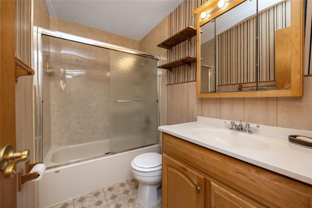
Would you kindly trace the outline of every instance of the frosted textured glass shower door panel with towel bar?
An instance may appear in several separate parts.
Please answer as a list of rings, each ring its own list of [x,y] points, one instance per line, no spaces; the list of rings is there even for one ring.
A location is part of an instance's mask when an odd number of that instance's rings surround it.
[[[157,60],[110,50],[110,149],[158,141]]]

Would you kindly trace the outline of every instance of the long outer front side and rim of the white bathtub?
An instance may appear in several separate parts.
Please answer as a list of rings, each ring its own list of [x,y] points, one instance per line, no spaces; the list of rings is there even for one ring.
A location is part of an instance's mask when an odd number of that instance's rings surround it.
[[[98,146],[100,146],[99,144]],[[76,149],[79,149],[80,146],[76,147]],[[68,152],[71,152],[73,149],[74,147],[72,149],[70,148]],[[90,160],[83,160],[74,164],[53,167],[63,160],[63,157],[60,157],[60,155],[67,155],[68,152],[66,149],[59,148],[53,149],[47,154],[44,162],[47,164],[50,162],[52,168],[45,170],[42,178],[38,181],[39,208],[59,204],[132,178],[130,162],[133,158],[146,152],[161,153],[161,148],[160,145],[147,146]],[[82,152],[80,151],[81,155]],[[68,155],[68,158],[71,157],[71,155]],[[50,159],[50,161],[47,161],[47,159]],[[83,158],[79,159],[81,160]],[[65,159],[65,163],[70,160]],[[77,160],[77,158],[74,160]]]

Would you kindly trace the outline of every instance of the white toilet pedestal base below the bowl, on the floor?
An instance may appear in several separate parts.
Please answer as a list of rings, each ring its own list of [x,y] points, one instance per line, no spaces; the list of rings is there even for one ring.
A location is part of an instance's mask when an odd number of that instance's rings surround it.
[[[159,186],[146,185],[139,182],[137,189],[137,201],[144,208],[152,208],[161,202],[161,192],[158,194]]]

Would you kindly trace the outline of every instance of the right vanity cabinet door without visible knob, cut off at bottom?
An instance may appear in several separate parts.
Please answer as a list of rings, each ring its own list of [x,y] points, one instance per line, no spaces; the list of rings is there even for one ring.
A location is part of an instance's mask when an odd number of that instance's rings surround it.
[[[257,208],[230,190],[211,182],[211,208]],[[262,206],[260,206],[262,207]]]

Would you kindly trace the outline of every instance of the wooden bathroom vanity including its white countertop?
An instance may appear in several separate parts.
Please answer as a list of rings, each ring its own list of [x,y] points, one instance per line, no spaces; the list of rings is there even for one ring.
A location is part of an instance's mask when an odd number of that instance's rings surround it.
[[[310,131],[261,125],[246,136],[228,127],[204,117],[159,127],[163,208],[312,207],[312,149],[285,138]]]

